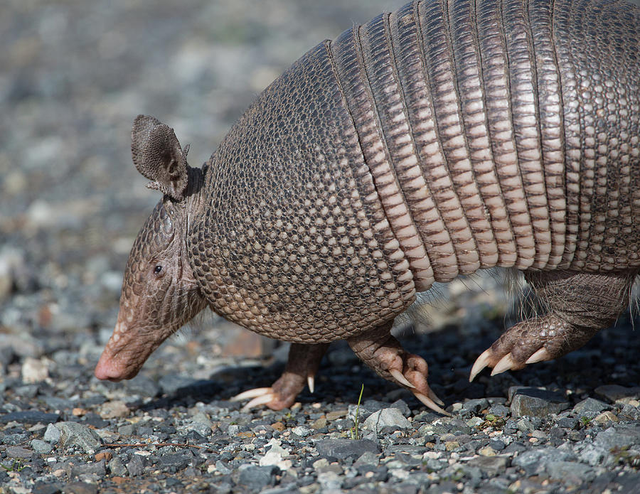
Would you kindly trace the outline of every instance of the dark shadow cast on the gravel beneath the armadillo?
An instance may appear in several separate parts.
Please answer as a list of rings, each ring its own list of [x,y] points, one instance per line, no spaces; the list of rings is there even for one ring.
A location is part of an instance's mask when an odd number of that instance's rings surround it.
[[[601,385],[628,386],[640,382],[640,363],[633,357],[640,355],[640,340],[628,315],[623,316],[614,328],[601,331],[585,347],[559,360],[529,365],[523,370],[504,372],[494,377],[490,376],[489,370],[484,370],[474,382],[469,382],[474,360],[498,338],[501,331],[500,319],[483,328],[451,325],[428,334],[405,332],[399,339],[407,351],[427,360],[430,386],[447,404],[484,397],[506,398],[512,386],[590,393]],[[286,352],[277,351],[276,354],[281,358],[267,360],[264,367],[224,367],[210,375],[208,380],[189,380],[183,385],[180,378],[167,374],[161,378],[164,382],[162,396],[140,409],[171,409],[191,406],[194,402],[220,402],[223,407],[239,408],[242,402],[228,400],[245,390],[269,387],[282,375],[285,366],[282,355]],[[173,386],[167,385],[165,381],[172,379],[178,382]],[[412,408],[422,407],[409,391],[383,380],[363,365],[344,341],[331,345],[316,375],[314,394],[305,388],[298,401],[303,404],[356,404],[361,386],[364,386],[363,399],[383,402],[404,399]]]

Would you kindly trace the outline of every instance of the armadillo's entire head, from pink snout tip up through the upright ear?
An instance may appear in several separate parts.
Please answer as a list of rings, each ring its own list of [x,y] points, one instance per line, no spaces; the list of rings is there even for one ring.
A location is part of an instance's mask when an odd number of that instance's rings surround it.
[[[165,195],[129,254],[117,323],[95,367],[98,379],[137,375],[149,355],[206,306],[186,255],[186,229],[198,209],[202,179],[199,169],[186,166],[186,151],[166,125],[153,117],[136,119],[134,163],[154,180],[149,186]]]

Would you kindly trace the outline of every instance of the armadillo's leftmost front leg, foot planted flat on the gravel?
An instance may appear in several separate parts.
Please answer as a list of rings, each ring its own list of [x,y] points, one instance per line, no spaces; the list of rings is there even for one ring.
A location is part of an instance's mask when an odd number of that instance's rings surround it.
[[[311,392],[314,391],[314,376],[318,372],[320,361],[327,348],[329,348],[329,343],[316,345],[292,343],[287,367],[271,387],[257,387],[253,390],[247,390],[233,397],[233,400],[252,398],[244,409],[257,407],[261,404],[266,404],[273,410],[290,407],[296,401],[299,392],[304,389],[304,385],[309,384]]]

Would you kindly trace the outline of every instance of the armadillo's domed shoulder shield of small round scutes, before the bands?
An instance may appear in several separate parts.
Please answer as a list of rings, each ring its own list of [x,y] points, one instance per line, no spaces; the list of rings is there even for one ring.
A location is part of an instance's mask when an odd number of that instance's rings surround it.
[[[191,264],[215,311],[299,343],[379,326],[415,298],[326,45],[279,77],[211,161]]]

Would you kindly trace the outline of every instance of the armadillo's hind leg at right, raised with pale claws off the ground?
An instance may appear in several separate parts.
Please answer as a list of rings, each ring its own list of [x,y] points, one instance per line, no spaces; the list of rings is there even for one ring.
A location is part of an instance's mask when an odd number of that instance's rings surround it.
[[[635,271],[525,272],[526,281],[548,313],[505,331],[476,360],[469,380],[484,367],[493,367],[491,375],[495,375],[580,348],[599,330],[611,326],[629,305],[635,276]]]

